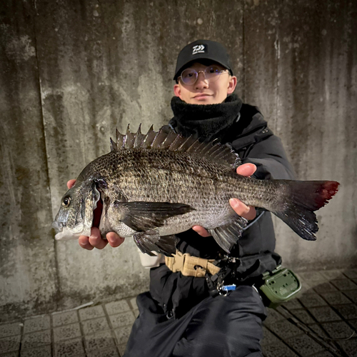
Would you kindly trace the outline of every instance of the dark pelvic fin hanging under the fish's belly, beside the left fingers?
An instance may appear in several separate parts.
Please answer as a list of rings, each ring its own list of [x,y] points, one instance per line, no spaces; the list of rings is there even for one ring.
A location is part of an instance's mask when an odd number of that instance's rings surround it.
[[[139,249],[149,256],[155,256],[152,251],[157,251],[165,256],[176,253],[176,236],[160,236],[158,229],[151,231],[138,232],[133,235],[134,241]]]

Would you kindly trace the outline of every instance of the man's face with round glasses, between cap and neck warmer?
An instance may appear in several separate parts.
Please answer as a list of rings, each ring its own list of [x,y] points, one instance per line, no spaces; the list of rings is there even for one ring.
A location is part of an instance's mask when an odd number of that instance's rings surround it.
[[[216,62],[211,64],[217,65]],[[219,65],[218,65],[219,66]],[[204,71],[207,64],[195,62],[189,66],[197,72]],[[225,68],[219,66],[221,70]],[[218,79],[205,79],[203,72],[198,73],[195,84],[184,84],[178,79],[178,84],[174,85],[174,93],[182,101],[188,104],[220,104],[236,89],[236,76],[231,76],[228,71],[218,76]]]

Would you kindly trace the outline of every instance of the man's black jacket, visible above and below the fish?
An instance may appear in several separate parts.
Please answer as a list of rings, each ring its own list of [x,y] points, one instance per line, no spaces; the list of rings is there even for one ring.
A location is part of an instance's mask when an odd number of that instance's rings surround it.
[[[237,119],[226,130],[221,141],[231,144],[243,163],[256,164],[254,176],[260,179],[294,178],[281,140],[268,129],[258,108],[243,104]],[[177,248],[183,253],[216,258],[221,252],[212,237],[203,238],[193,230],[177,236],[180,238]],[[245,271],[249,272],[244,278],[251,281],[251,278],[264,271],[272,271],[281,263],[280,256],[274,253],[275,242],[271,213],[258,209],[256,219],[249,223],[236,246],[231,249],[231,256],[242,258],[238,269],[243,276]],[[252,266],[253,271],[250,269]],[[174,311],[176,316],[180,316],[208,296],[208,288],[204,278],[182,276],[161,265],[151,268],[150,293],[164,311]]]

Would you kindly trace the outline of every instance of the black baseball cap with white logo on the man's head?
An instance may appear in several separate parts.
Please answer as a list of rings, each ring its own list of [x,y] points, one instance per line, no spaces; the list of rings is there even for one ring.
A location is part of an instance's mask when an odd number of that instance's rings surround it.
[[[178,54],[174,81],[177,80],[177,77],[180,76],[181,71],[183,71],[187,64],[193,61],[199,61],[200,59],[211,59],[221,64],[228,69],[233,76],[231,62],[229,61],[226,48],[216,41],[197,40],[183,47]]]

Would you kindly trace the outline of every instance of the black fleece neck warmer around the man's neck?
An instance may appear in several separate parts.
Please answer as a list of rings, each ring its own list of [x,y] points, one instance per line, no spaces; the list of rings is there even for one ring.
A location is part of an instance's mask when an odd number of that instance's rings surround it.
[[[177,96],[171,99],[171,108],[174,118],[171,126],[176,127],[183,136],[196,135],[199,139],[211,141],[221,139],[223,131],[233,124],[242,101],[232,94],[221,104],[187,104]]]

